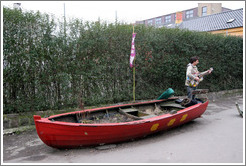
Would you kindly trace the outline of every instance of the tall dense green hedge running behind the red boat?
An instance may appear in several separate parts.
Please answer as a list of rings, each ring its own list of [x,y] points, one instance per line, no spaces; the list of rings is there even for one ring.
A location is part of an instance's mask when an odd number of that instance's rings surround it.
[[[136,100],[155,99],[167,88],[185,95],[186,66],[214,68],[199,88],[243,88],[243,39],[188,30],[135,26]],[[4,113],[132,100],[129,67],[132,26],[65,24],[39,12],[3,8]]]

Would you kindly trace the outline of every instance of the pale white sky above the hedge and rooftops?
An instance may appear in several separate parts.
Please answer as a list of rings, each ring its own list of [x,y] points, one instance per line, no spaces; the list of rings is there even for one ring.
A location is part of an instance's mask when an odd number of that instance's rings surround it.
[[[67,19],[97,21],[100,18],[115,22],[117,18],[124,23],[195,8],[198,3],[222,3],[222,7],[232,10],[245,6],[245,1],[1,1],[1,6],[13,8],[14,3],[21,3],[24,11],[39,10],[58,19],[63,18],[65,13]]]

